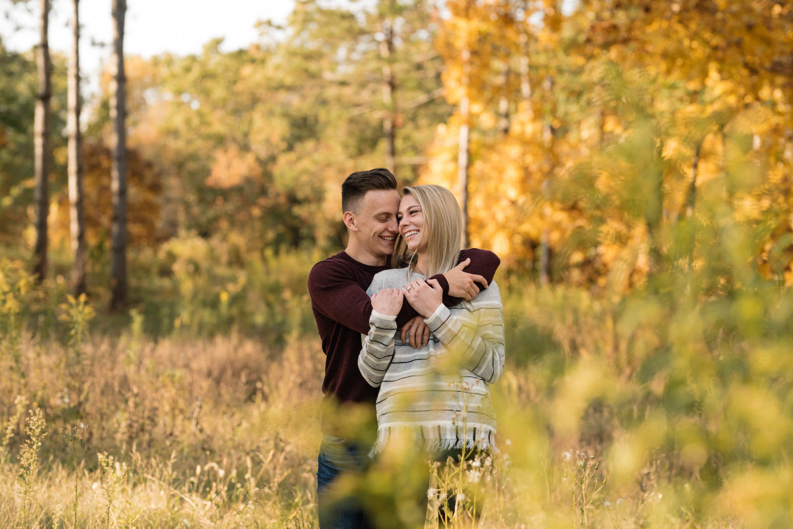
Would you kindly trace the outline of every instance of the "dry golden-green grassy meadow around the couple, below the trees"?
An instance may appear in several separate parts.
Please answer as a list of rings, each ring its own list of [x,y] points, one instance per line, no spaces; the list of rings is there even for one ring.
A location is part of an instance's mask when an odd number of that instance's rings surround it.
[[[178,306],[182,325],[201,314],[196,329],[214,317],[225,332],[147,332],[143,312],[95,314],[4,259],[0,525],[316,527],[312,259],[274,258],[295,277],[240,290],[237,314],[280,293],[291,315],[277,336],[223,320],[226,290]],[[481,519],[454,525],[789,527],[793,297],[749,265],[752,288],[703,295],[706,268],[624,296],[500,272],[500,454],[446,476],[487,489]],[[398,494],[399,465],[381,462],[371,487]]]

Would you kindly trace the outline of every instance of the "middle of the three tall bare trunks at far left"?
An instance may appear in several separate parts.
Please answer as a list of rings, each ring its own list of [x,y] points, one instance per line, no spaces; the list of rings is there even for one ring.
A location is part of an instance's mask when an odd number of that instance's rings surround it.
[[[80,137],[80,17],[79,0],[72,0],[71,55],[69,56],[69,228],[75,264],[71,268],[71,287],[75,295],[86,291],[86,223],[82,211],[82,138]]]

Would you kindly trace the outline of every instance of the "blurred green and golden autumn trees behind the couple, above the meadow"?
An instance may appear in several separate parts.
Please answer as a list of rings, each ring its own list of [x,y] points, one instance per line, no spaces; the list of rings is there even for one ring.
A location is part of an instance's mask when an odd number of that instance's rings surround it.
[[[791,16],[754,0],[302,0],[285,25],[260,22],[247,49],[127,57],[131,280],[151,266],[174,277],[168,249],[191,238],[225,248],[240,273],[255,255],[327,255],[345,242],[340,182],[389,166],[406,185],[453,189],[470,244],[508,270],[619,294],[701,265],[695,226],[714,222],[703,190],[720,186],[736,218],[764,226],[758,270],[787,284]],[[33,259],[34,59],[0,49],[0,238]],[[55,256],[43,276],[56,278],[74,251],[65,60],[53,63],[52,196],[39,209],[52,214]],[[87,105],[82,149],[99,298],[119,273],[108,267],[121,230],[102,191],[112,81],[108,70]],[[155,295],[146,288],[133,285],[131,303]]]

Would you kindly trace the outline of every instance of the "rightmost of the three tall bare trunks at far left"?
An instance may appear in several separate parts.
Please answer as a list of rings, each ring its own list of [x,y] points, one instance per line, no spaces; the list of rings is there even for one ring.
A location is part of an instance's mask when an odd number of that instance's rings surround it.
[[[113,194],[113,219],[110,238],[113,252],[110,257],[110,310],[127,305],[127,141],[124,74],[124,19],[127,0],[113,0],[113,59],[110,82],[110,120],[113,121],[111,139],[113,162],[110,168],[110,191]]]

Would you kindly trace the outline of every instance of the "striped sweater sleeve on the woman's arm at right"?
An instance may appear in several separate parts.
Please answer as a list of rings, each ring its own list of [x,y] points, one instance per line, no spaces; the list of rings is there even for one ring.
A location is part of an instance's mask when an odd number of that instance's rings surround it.
[[[498,286],[490,288],[495,291],[488,291],[487,300],[477,296],[452,310],[440,305],[424,320],[450,354],[460,356],[462,367],[488,384],[504,372],[504,310]]]

